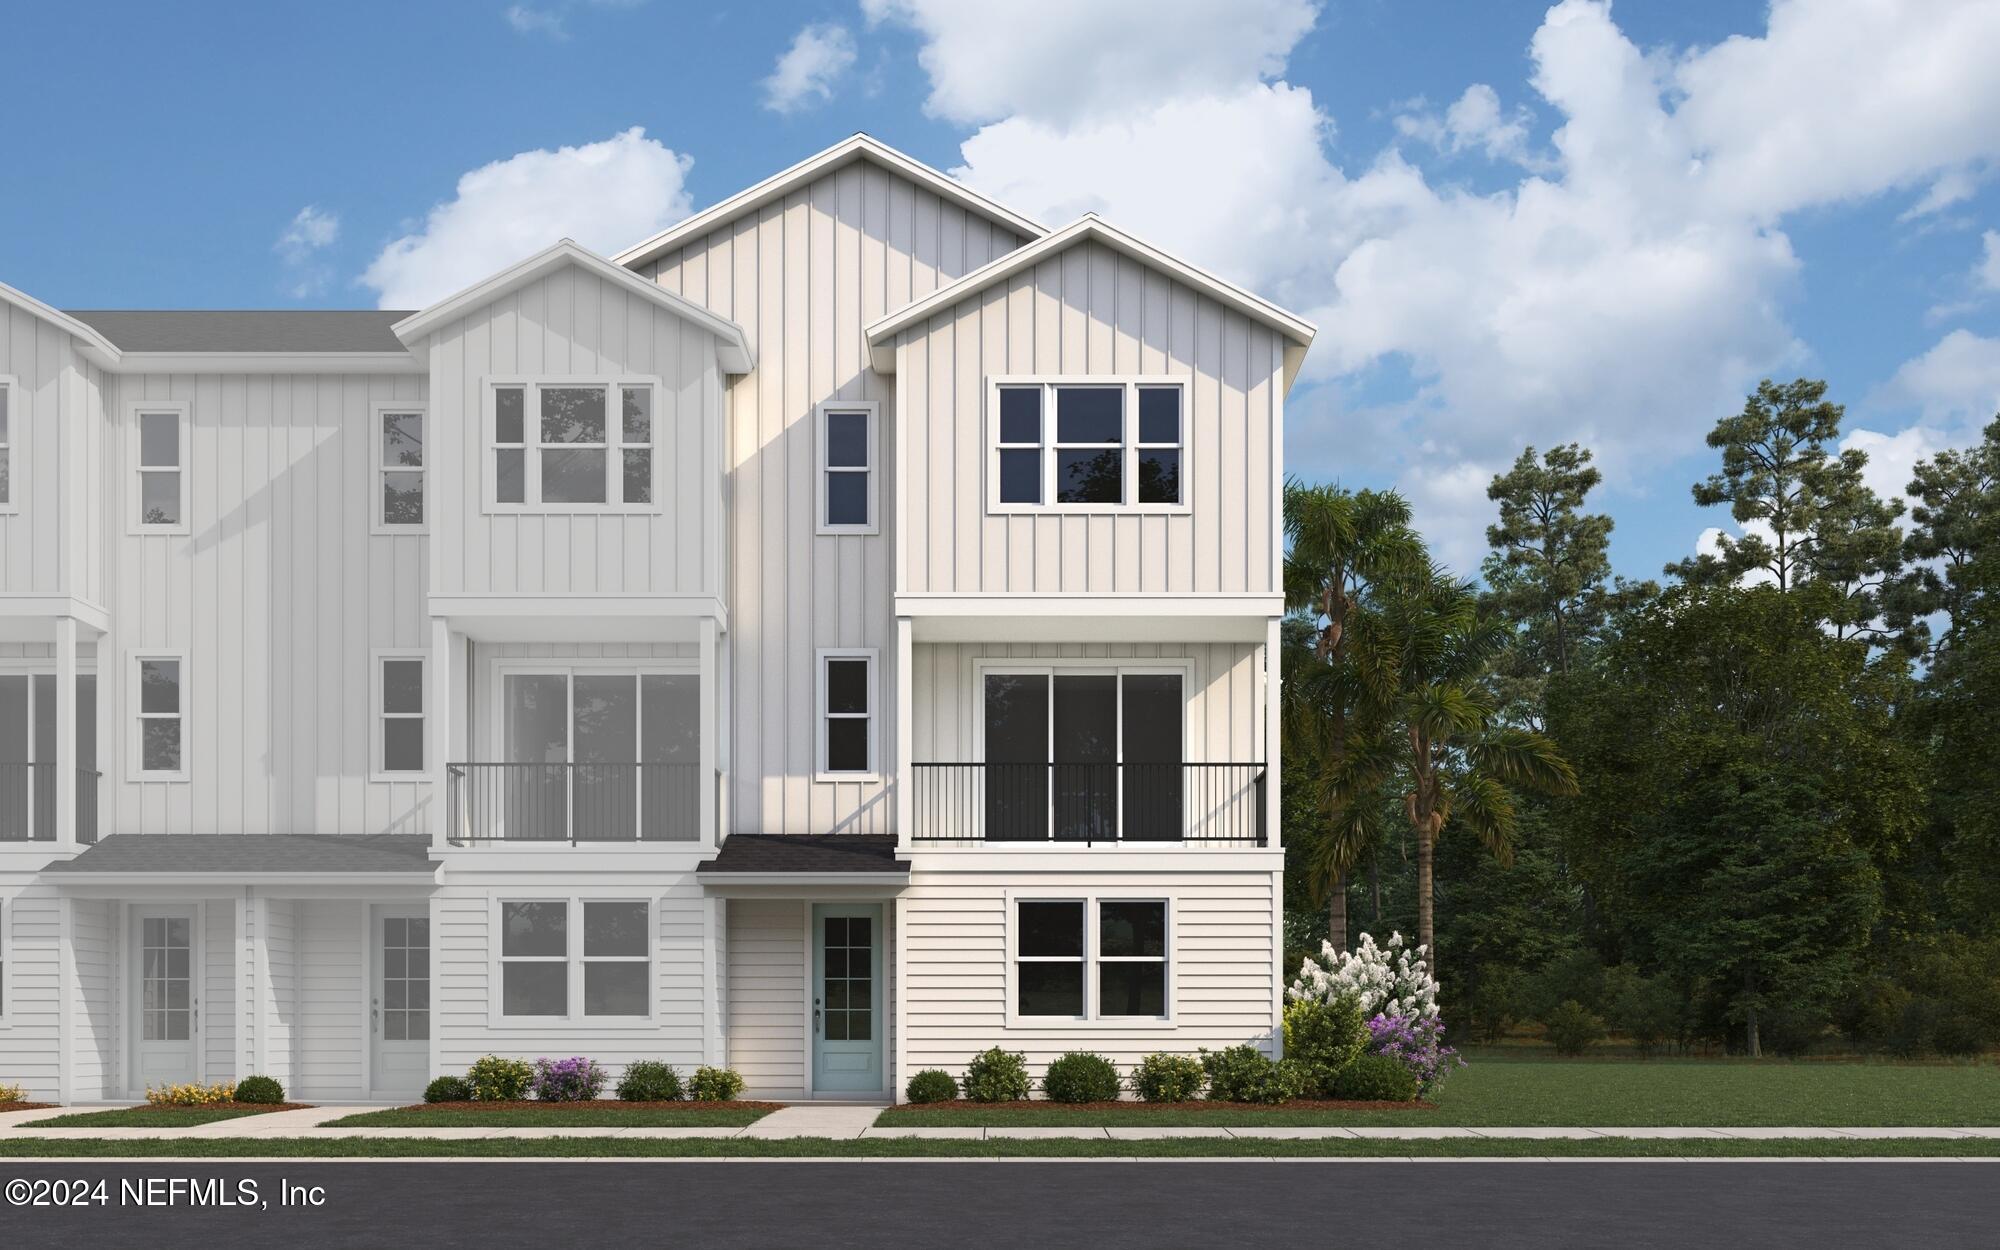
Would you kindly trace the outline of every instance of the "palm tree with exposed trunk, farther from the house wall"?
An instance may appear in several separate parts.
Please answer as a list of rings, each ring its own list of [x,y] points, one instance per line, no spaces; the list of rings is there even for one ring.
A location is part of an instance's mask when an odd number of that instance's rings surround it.
[[[1576,794],[1556,744],[1500,720],[1488,686],[1508,628],[1482,614],[1472,586],[1432,568],[1384,596],[1396,640],[1398,692],[1390,724],[1404,742],[1404,812],[1416,836],[1416,928],[1438,968],[1432,866],[1438,834],[1456,818],[1502,864],[1514,862],[1514,794]],[[1378,744],[1370,744],[1378,746]]]

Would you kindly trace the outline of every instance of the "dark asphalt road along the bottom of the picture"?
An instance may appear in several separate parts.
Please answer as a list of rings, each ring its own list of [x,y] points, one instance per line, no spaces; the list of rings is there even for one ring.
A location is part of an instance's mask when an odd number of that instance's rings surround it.
[[[0,1160],[0,1246],[1994,1246],[1994,1162]],[[174,1182],[238,1206],[190,1206]],[[140,1188],[128,1188],[132,1182]],[[220,1182],[220,1184],[218,1184]],[[254,1184],[250,1194],[244,1182]],[[144,1184],[154,1186],[148,1194]],[[298,1186],[282,1190],[282,1186]],[[320,1202],[310,1202],[320,1186]],[[300,1196],[300,1188],[308,1196]],[[284,1194],[292,1194],[292,1204]],[[12,1202],[16,1194],[10,1190]],[[144,1200],[162,1202],[144,1206]],[[172,1200],[170,1206],[164,1202]],[[268,1202],[268,1206],[260,1206]]]

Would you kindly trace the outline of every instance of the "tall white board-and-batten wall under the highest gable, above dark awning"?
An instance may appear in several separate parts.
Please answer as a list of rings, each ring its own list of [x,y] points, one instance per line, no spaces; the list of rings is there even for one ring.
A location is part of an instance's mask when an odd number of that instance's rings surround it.
[[[730,318],[756,370],[728,388],[730,828],[886,834],[886,784],[816,782],[816,652],[876,648],[880,744],[896,740],[894,378],[862,326],[1012,252],[1020,236],[874,162],[850,162],[640,268]],[[816,534],[814,414],[880,404],[878,534]]]

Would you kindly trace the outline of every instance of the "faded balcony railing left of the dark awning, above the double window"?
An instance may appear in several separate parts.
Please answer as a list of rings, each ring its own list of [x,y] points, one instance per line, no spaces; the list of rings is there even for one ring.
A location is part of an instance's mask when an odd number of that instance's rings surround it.
[[[448,838],[696,842],[700,764],[446,764]]]

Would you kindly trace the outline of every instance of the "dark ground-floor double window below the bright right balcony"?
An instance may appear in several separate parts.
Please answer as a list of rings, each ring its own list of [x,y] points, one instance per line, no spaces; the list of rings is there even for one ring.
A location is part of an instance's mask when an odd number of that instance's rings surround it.
[[[1164,1020],[1166,900],[1018,900],[1014,1014]]]

